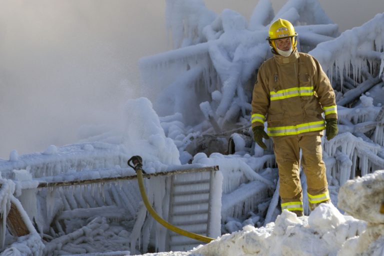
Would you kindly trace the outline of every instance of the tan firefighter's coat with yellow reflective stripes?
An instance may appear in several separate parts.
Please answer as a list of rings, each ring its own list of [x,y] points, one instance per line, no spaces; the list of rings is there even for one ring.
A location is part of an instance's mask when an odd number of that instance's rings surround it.
[[[252,127],[264,125],[270,136],[322,134],[325,119],[337,118],[335,94],[317,60],[294,50],[261,64],[252,95]]]

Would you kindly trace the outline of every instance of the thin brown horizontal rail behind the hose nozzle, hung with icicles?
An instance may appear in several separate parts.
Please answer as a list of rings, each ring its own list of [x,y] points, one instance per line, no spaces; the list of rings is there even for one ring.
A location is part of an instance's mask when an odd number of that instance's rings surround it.
[[[170,171],[161,171],[154,173],[143,173],[144,178],[156,177],[156,176],[169,176],[174,174],[189,173],[189,172],[204,172],[204,171],[216,171],[218,170],[218,165],[201,167],[201,168],[189,168],[189,169],[179,169],[179,170],[170,170]],[[71,185],[84,185],[91,183],[104,183],[110,181],[118,180],[129,180],[136,179],[137,175],[129,176],[117,176],[117,177],[103,177],[103,178],[91,178],[91,179],[82,179],[82,180],[63,180],[63,181],[39,181],[40,183],[37,187],[53,187],[53,186],[71,186]]]

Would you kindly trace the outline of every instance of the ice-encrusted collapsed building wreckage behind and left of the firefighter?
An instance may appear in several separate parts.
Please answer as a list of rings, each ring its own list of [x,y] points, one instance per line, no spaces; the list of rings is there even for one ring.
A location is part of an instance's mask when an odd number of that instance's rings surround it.
[[[214,189],[214,197],[221,200],[211,205],[216,216],[221,216],[221,232],[235,231],[243,223],[260,226],[273,221],[279,213],[278,193],[273,193],[277,178],[272,145],[269,141],[268,149],[260,151],[248,128],[250,91],[258,66],[270,54],[265,38],[268,24],[275,17],[295,25],[298,47],[320,61],[337,95],[340,133],[331,141],[324,141],[332,200],[337,201],[339,186],[350,184],[349,179],[360,175],[365,180],[365,176],[372,177],[368,174],[384,168],[383,107],[371,97],[383,93],[384,14],[339,35],[337,25],[332,24],[316,0],[290,0],[276,15],[270,1],[260,0],[248,23],[231,10],[216,15],[200,1],[167,0],[166,11],[175,49],[140,60],[143,89],[150,88],[146,91],[153,93],[148,96],[161,116],[158,120],[166,137],[177,146],[179,166],[191,167],[189,162],[194,167],[219,165],[221,177],[217,182],[221,185]],[[5,178],[0,193],[2,214],[5,216],[11,209],[11,202],[22,205],[28,215],[23,213],[27,223],[24,231],[29,232],[15,240],[7,233],[3,217],[1,241],[10,247],[2,253],[95,252],[104,234],[113,242],[104,243],[103,251],[168,249],[166,230],[146,217],[136,182],[37,190],[37,179],[51,182],[134,175],[132,169],[125,168],[128,157],[122,151],[121,145],[94,141],[59,147],[45,154],[11,154],[9,161],[0,160]],[[170,169],[147,164],[144,169],[155,169],[153,172]],[[30,178],[16,181],[17,175]],[[68,175],[72,177],[68,179]],[[197,179],[208,180],[201,175]],[[10,179],[13,181],[7,181]],[[146,180],[147,193],[156,211],[166,216],[170,181],[159,179],[162,181]],[[206,190],[204,186],[208,185],[198,185]],[[354,209],[341,201],[340,207],[353,214]],[[245,220],[241,223],[236,219]],[[193,223],[195,219],[189,221]],[[187,220],[182,218],[179,222]],[[212,228],[217,226],[220,223]]]

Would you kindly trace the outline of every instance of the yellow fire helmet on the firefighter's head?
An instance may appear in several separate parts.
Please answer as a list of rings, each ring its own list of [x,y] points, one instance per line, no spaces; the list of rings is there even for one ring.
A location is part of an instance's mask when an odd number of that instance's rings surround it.
[[[268,40],[269,45],[276,52],[278,52],[276,44],[274,42],[275,39],[290,37],[292,50],[294,50],[297,44],[296,36],[297,33],[294,31],[292,23],[290,23],[286,19],[279,18],[269,26],[269,36],[266,39]]]

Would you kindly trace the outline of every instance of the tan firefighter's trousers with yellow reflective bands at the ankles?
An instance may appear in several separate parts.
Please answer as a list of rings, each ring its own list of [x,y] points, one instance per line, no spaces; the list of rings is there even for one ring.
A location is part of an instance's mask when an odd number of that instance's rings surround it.
[[[276,136],[272,139],[280,177],[281,209],[302,215],[302,188],[299,176],[300,148],[302,151],[301,164],[308,187],[309,208],[313,210],[319,203],[329,201],[320,135]]]

